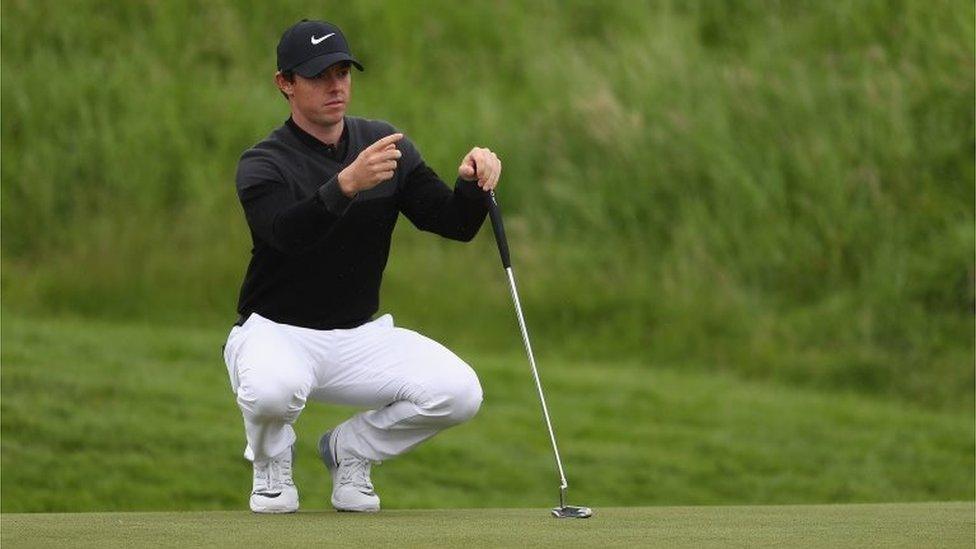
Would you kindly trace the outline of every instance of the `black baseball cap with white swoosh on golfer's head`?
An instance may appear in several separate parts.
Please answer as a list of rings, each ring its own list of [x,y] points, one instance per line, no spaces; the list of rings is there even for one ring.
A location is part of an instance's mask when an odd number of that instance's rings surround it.
[[[293,71],[312,78],[340,61],[349,61],[363,70],[349,53],[346,37],[332,23],[302,19],[278,41],[278,70],[282,72]]]

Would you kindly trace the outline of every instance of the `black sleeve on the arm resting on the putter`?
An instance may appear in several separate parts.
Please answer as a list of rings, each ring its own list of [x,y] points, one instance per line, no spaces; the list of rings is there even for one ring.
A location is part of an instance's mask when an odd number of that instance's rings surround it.
[[[451,191],[423,161],[407,175],[397,201],[400,211],[418,229],[463,242],[478,234],[488,214],[485,193],[477,181],[459,177]]]

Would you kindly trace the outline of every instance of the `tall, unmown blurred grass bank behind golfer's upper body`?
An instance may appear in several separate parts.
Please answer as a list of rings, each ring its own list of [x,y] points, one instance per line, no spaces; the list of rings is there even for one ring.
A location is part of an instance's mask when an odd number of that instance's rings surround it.
[[[366,66],[350,114],[499,188],[543,355],[971,409],[967,1],[7,0],[5,314],[227,324],[239,155],[280,125],[302,17]],[[451,345],[517,346],[490,231],[402,219],[382,295]]]

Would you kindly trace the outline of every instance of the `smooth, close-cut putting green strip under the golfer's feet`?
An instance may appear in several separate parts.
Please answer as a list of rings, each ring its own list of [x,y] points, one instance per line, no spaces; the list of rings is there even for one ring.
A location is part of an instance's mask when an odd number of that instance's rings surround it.
[[[545,509],[6,514],[4,547],[972,547],[969,503]]]

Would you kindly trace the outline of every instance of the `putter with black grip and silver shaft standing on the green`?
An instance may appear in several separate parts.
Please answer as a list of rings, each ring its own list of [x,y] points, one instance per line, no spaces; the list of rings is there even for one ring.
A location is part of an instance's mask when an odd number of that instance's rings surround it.
[[[556,435],[552,430],[552,421],[549,419],[549,408],[546,406],[546,397],[542,394],[542,382],[539,381],[539,370],[535,367],[535,357],[532,355],[532,345],[529,343],[529,332],[525,329],[525,318],[522,316],[522,304],[518,299],[518,290],[515,289],[515,275],[512,273],[512,260],[508,254],[508,239],[505,238],[505,226],[502,224],[502,212],[498,208],[498,202],[495,200],[495,191],[490,191],[486,200],[488,200],[488,214],[491,216],[491,228],[495,232],[495,243],[498,244],[498,253],[502,258],[502,267],[505,268],[505,272],[508,274],[508,287],[512,291],[512,301],[515,302],[515,315],[518,317],[519,328],[522,330],[522,342],[525,343],[525,352],[529,355],[532,377],[535,379],[535,388],[539,391],[539,402],[542,403],[542,416],[546,420],[546,427],[549,428],[549,441],[552,442],[552,453],[556,456],[556,467],[559,469],[559,507],[552,508],[552,516],[556,518],[589,518],[593,515],[593,510],[589,507],[566,505],[566,490],[569,488],[569,484],[566,482],[563,462],[559,459]]]

